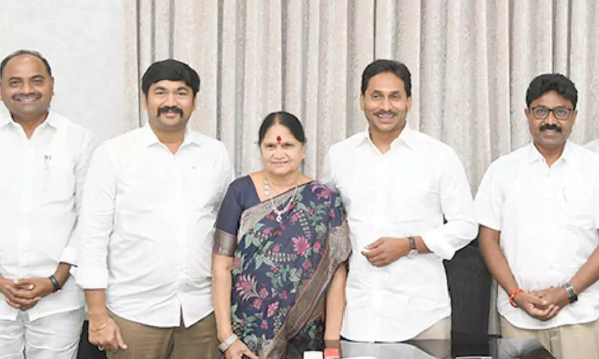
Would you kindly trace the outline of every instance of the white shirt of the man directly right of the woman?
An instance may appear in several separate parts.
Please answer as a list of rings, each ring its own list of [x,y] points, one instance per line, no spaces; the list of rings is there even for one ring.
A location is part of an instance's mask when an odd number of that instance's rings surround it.
[[[406,125],[381,154],[362,132],[331,147],[322,182],[343,197],[353,248],[341,335],[397,342],[449,317],[442,260],[477,234],[470,186],[456,153]],[[385,267],[372,266],[361,254],[381,237],[407,236],[421,236],[432,253]]]

